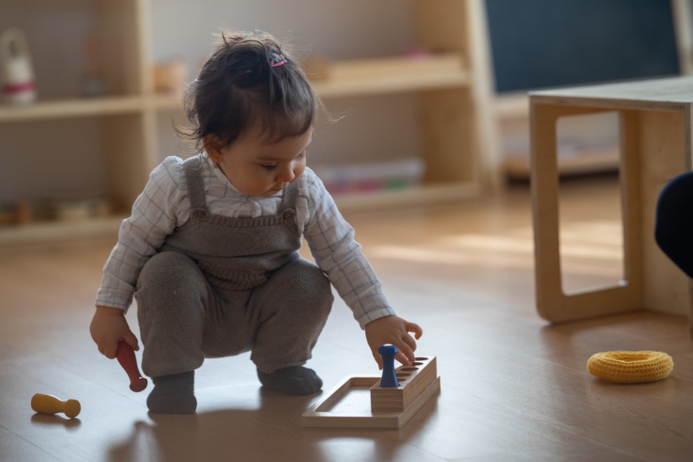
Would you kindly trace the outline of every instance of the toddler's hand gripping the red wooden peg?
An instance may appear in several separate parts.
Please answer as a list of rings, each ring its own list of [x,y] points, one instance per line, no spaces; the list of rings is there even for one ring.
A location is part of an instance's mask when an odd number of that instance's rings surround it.
[[[97,306],[89,332],[99,352],[109,359],[116,357],[118,342],[121,340],[132,346],[132,349],[139,350],[137,337],[125,320],[125,312],[119,308]]]

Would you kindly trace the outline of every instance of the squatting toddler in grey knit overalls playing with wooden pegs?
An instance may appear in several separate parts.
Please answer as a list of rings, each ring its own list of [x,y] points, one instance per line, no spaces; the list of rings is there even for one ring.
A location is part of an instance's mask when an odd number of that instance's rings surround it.
[[[265,33],[225,33],[184,96],[198,154],[166,158],[123,220],[103,269],[91,337],[114,358],[139,349],[125,320],[137,300],[153,413],[192,414],[205,357],[251,352],[263,387],[316,393],[304,364],[333,285],[377,349],[414,360],[422,330],[397,317],[322,181],[306,167],[322,104],[300,66]],[[299,256],[301,236],[315,263]]]

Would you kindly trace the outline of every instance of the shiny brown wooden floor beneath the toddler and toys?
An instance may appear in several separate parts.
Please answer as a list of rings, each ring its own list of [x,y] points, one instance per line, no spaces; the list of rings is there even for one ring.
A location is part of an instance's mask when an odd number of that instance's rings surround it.
[[[571,185],[561,209],[566,285],[618,278],[613,179]],[[397,430],[304,429],[320,396],[261,389],[247,355],[198,370],[198,414],[148,415],[119,364],[89,337],[111,239],[0,249],[0,461],[691,461],[693,342],[686,320],[647,312],[550,326],[534,309],[526,186],[416,210],[345,213],[387,294],[420,323],[441,391]],[[570,246],[568,246],[570,247]],[[128,314],[135,326],[134,310]],[[650,384],[586,370],[608,350],[662,350],[674,372]],[[377,374],[339,301],[310,366],[326,390]],[[34,393],[76,398],[69,420],[35,414]]]

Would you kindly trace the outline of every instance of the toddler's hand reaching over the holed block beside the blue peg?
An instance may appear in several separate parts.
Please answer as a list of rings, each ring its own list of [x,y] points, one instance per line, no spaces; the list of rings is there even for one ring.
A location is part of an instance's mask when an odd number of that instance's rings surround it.
[[[366,340],[378,363],[378,368],[383,368],[383,358],[378,355],[378,348],[385,344],[393,344],[397,347],[398,353],[394,359],[398,362],[405,366],[410,366],[414,362],[416,341],[409,332],[414,333],[416,340],[423,335],[423,330],[417,324],[394,315],[378,318],[366,324]]]

